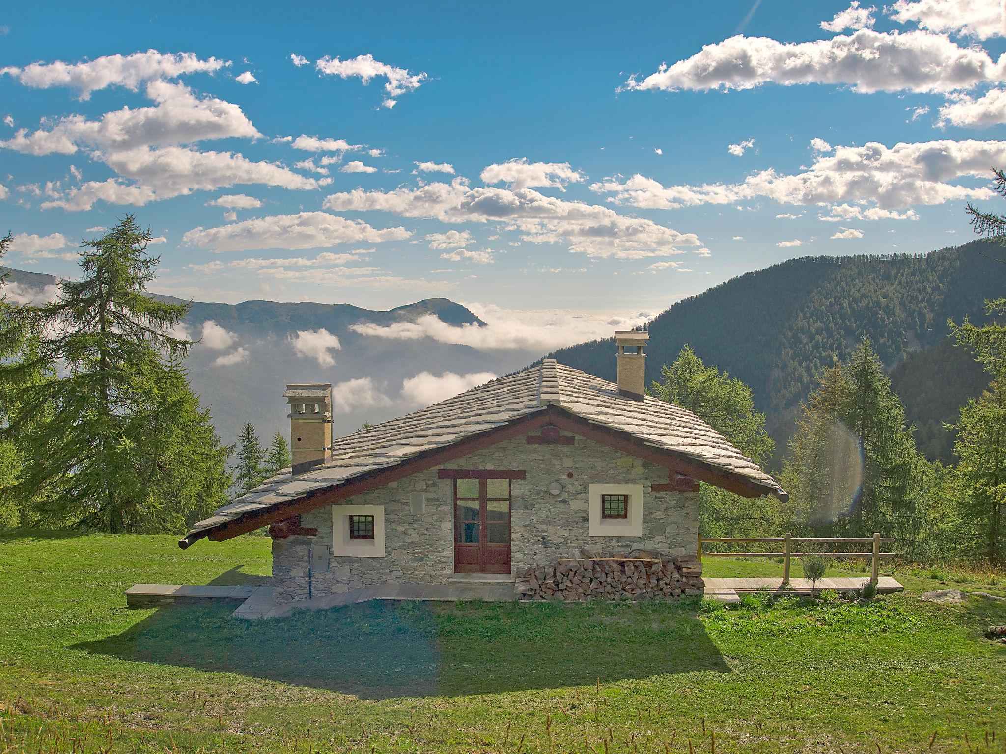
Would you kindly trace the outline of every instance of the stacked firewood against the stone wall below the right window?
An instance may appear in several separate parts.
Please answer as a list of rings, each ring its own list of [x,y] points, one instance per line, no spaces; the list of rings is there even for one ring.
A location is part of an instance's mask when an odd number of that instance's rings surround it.
[[[673,599],[701,594],[702,564],[695,557],[681,557],[648,550],[629,555],[603,556],[580,550],[570,558],[532,566],[515,585],[518,599]]]

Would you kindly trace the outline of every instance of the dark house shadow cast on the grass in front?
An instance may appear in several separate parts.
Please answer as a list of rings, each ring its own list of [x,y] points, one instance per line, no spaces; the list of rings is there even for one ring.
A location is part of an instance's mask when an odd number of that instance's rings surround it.
[[[369,699],[728,672],[692,607],[374,601],[245,622],[232,606],[176,605],[70,648]]]

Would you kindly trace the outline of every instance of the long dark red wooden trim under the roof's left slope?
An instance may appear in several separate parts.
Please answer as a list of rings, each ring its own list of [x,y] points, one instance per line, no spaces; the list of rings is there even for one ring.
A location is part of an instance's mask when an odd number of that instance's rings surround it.
[[[220,524],[212,529],[203,529],[202,531],[194,532],[191,537],[184,538],[181,542],[185,543],[186,547],[203,537],[208,537],[211,542],[223,542],[241,534],[254,532],[256,529],[269,526],[274,522],[283,521],[293,515],[307,513],[308,511],[313,511],[315,508],[329,506],[346,498],[352,498],[353,496],[376,490],[391,482],[397,482],[413,474],[426,472],[443,463],[464,457],[476,450],[484,450],[498,442],[508,440],[512,437],[519,437],[522,434],[539,429],[547,424],[548,421],[548,409],[543,408],[536,413],[522,416],[519,419],[511,421],[509,424],[503,424],[485,432],[480,432],[453,445],[416,453],[411,458],[407,458],[398,465],[391,466],[390,468],[376,469],[340,485],[308,493],[302,498],[285,501],[272,508],[263,510],[258,515],[255,512],[242,514],[232,522]]]

